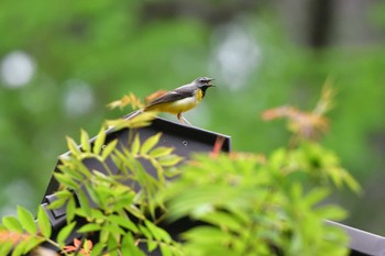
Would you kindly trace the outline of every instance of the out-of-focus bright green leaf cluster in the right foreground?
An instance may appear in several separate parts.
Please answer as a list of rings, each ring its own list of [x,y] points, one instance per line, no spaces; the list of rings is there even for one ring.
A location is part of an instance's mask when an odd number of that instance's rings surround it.
[[[345,255],[345,234],[324,220],[341,221],[346,212],[321,202],[334,185],[359,186],[329,156],[324,168],[336,172],[310,167],[311,146],[320,149],[317,144],[279,148],[264,160],[250,154],[196,155],[164,190],[173,221],[187,216],[205,223],[184,234],[186,255]]]

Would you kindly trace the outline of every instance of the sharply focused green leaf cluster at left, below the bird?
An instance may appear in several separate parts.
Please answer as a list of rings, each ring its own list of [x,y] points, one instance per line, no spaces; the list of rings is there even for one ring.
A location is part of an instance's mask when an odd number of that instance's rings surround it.
[[[74,246],[67,245],[75,229],[84,242],[75,243],[79,248],[91,243],[86,240],[88,236],[97,241],[87,246],[87,251],[82,248],[81,252],[91,252],[89,255],[103,255],[106,252],[144,255],[138,246],[147,252],[161,249],[164,255],[179,255],[177,243],[154,224],[158,218],[155,209],[164,205],[153,199],[166,178],[175,175],[175,168],[169,167],[183,158],[173,154],[173,148],[156,146],[161,134],[143,143],[139,133],[132,137],[123,146],[118,145],[116,140],[107,143],[103,127],[94,142],[81,131],[79,146],[67,137],[69,154],[61,158],[59,171],[54,174],[61,189],[55,193],[57,199],[48,205],[52,210],[66,209],[65,226],[52,240],[45,211],[41,209],[34,222],[32,214],[20,208],[20,221],[13,216],[3,219],[4,232],[10,236],[4,237],[8,246],[0,255],[6,255],[11,248],[12,255],[22,255],[43,242],[51,243],[62,254],[76,255],[80,249],[75,251]],[[97,162],[98,168],[89,169],[89,160]],[[111,169],[107,162],[112,162],[118,170]],[[146,171],[144,162],[156,170],[155,177]]]

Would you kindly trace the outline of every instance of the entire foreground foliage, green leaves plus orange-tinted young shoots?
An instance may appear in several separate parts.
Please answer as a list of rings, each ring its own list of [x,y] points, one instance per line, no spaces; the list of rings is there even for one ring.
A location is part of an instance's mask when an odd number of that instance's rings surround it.
[[[287,118],[293,133],[288,146],[268,156],[221,154],[218,140],[211,154],[182,163],[173,148],[158,146],[162,134],[143,140],[134,132],[151,123],[147,113],[107,122],[114,130],[131,129],[125,145],[106,141],[107,125],[92,143],[85,131],[79,143],[67,137],[69,154],[55,172],[61,188],[50,204],[66,209],[65,225],[52,237],[43,208],[34,219],[19,207],[18,216],[2,219],[0,255],[57,255],[42,244],[68,256],[155,251],[165,256],[348,255],[345,233],[324,222],[346,216],[341,207],[324,201],[334,188],[361,191],[338,157],[317,141],[329,126],[324,113],[332,96],[326,87],[312,112],[294,107],[265,112],[268,120]],[[110,107],[127,104],[141,105],[130,94]],[[98,163],[92,169],[85,164],[90,159]],[[185,218],[200,224],[178,241],[158,225]]]

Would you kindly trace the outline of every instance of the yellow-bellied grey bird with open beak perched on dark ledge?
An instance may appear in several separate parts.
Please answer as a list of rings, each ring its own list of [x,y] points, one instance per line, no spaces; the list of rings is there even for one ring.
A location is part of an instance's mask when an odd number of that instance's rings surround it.
[[[191,125],[182,114],[200,103],[205,98],[206,90],[215,87],[211,81],[212,78],[199,77],[185,86],[178,87],[172,91],[148,102],[143,111],[158,111],[176,114],[180,123]],[[133,114],[136,115],[136,114]]]

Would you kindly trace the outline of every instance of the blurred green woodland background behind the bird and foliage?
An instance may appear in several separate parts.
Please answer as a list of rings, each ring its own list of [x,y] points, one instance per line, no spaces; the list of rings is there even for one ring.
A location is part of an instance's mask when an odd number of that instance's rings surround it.
[[[385,235],[384,2],[2,0],[0,10],[0,216],[35,211],[65,135],[95,135],[125,113],[106,108],[124,93],[215,77],[186,118],[231,135],[234,151],[268,154],[289,134],[261,112],[311,109],[332,77],[323,143],[365,190],[333,200],[351,211],[346,224]]]

